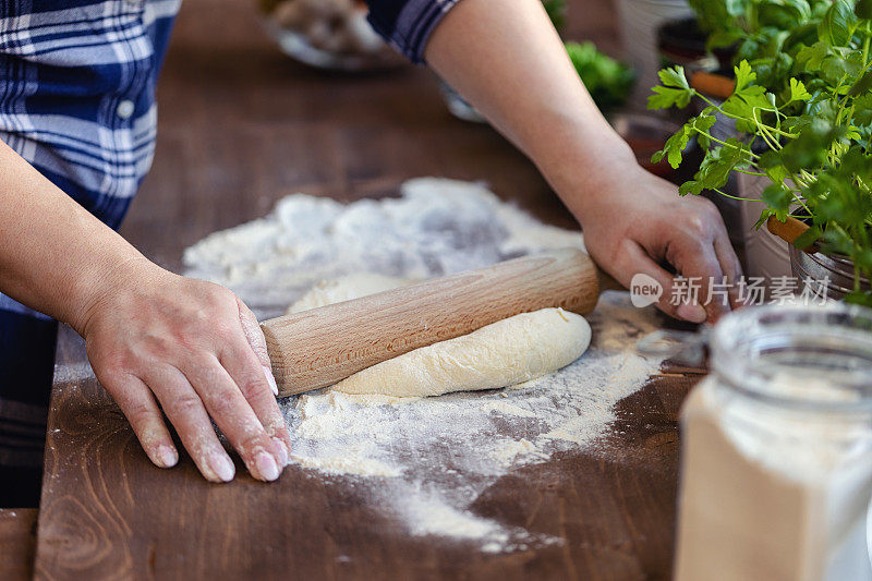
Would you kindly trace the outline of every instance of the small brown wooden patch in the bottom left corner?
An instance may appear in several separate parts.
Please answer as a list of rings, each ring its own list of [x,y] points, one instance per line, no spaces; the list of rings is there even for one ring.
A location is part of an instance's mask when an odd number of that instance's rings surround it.
[[[25,581],[34,576],[35,508],[0,509],[0,579]]]

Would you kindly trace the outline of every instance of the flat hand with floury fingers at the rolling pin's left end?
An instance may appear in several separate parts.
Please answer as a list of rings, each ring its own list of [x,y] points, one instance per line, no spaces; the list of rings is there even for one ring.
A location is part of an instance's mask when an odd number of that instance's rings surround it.
[[[179,455],[164,422],[211,482],[235,469],[214,420],[249,472],[279,477],[291,438],[254,314],[228,289],[133,259],[88,305],[76,330],[97,378],[158,467]]]

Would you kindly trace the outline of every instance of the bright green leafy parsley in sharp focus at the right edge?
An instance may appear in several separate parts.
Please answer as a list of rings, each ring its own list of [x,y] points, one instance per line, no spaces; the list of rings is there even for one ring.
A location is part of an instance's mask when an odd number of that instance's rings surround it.
[[[727,4],[705,7],[728,10]],[[654,87],[650,108],[683,108],[694,98],[706,107],[654,160],[666,158],[678,167],[689,140],[697,138],[705,157],[694,178],[680,186],[681,195],[707,189],[731,196],[723,191],[731,173],[768,180],[756,227],[770,217],[806,222],[809,229],[794,245],[818,244],[823,255],[847,262],[853,271],[848,300],[872,305],[872,0],[856,7],[847,0],[737,5],[751,7],[747,14],[758,23],[764,8],[786,7],[783,20],[766,16],[783,28],[749,26],[752,32],[715,38],[739,43],[737,53],[753,57],[735,68],[735,88],[723,102],[691,87],[680,66],[659,72],[662,84]],[[804,24],[787,28],[788,16],[796,14]],[[765,43],[780,48],[763,50]],[[740,133],[713,135],[716,114],[735,122]],[[797,271],[799,254],[792,255]]]

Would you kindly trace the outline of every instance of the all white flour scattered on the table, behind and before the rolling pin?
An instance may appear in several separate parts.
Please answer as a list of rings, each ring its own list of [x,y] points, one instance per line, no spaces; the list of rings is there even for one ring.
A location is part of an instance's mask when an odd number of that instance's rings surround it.
[[[399,199],[286,197],[267,218],[187,249],[184,261],[189,275],[228,286],[272,316],[323,279],[359,271],[423,279],[560,246],[583,247],[581,234],[542,225],[481,184],[419,179]],[[350,480],[411,534],[486,552],[559,543],[469,507],[519,467],[601,445],[615,404],[658,370],[659,360],[632,350],[657,327],[651,307],[609,292],[588,319],[593,341],[581,359],[520,386],[411,400],[328,390],[286,399],[293,461]]]

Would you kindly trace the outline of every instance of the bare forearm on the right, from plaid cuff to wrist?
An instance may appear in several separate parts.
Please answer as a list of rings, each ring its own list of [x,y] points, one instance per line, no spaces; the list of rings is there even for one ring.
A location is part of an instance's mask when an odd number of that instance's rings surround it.
[[[634,167],[588,95],[540,0],[461,0],[427,62],[540,168],[573,211]]]

